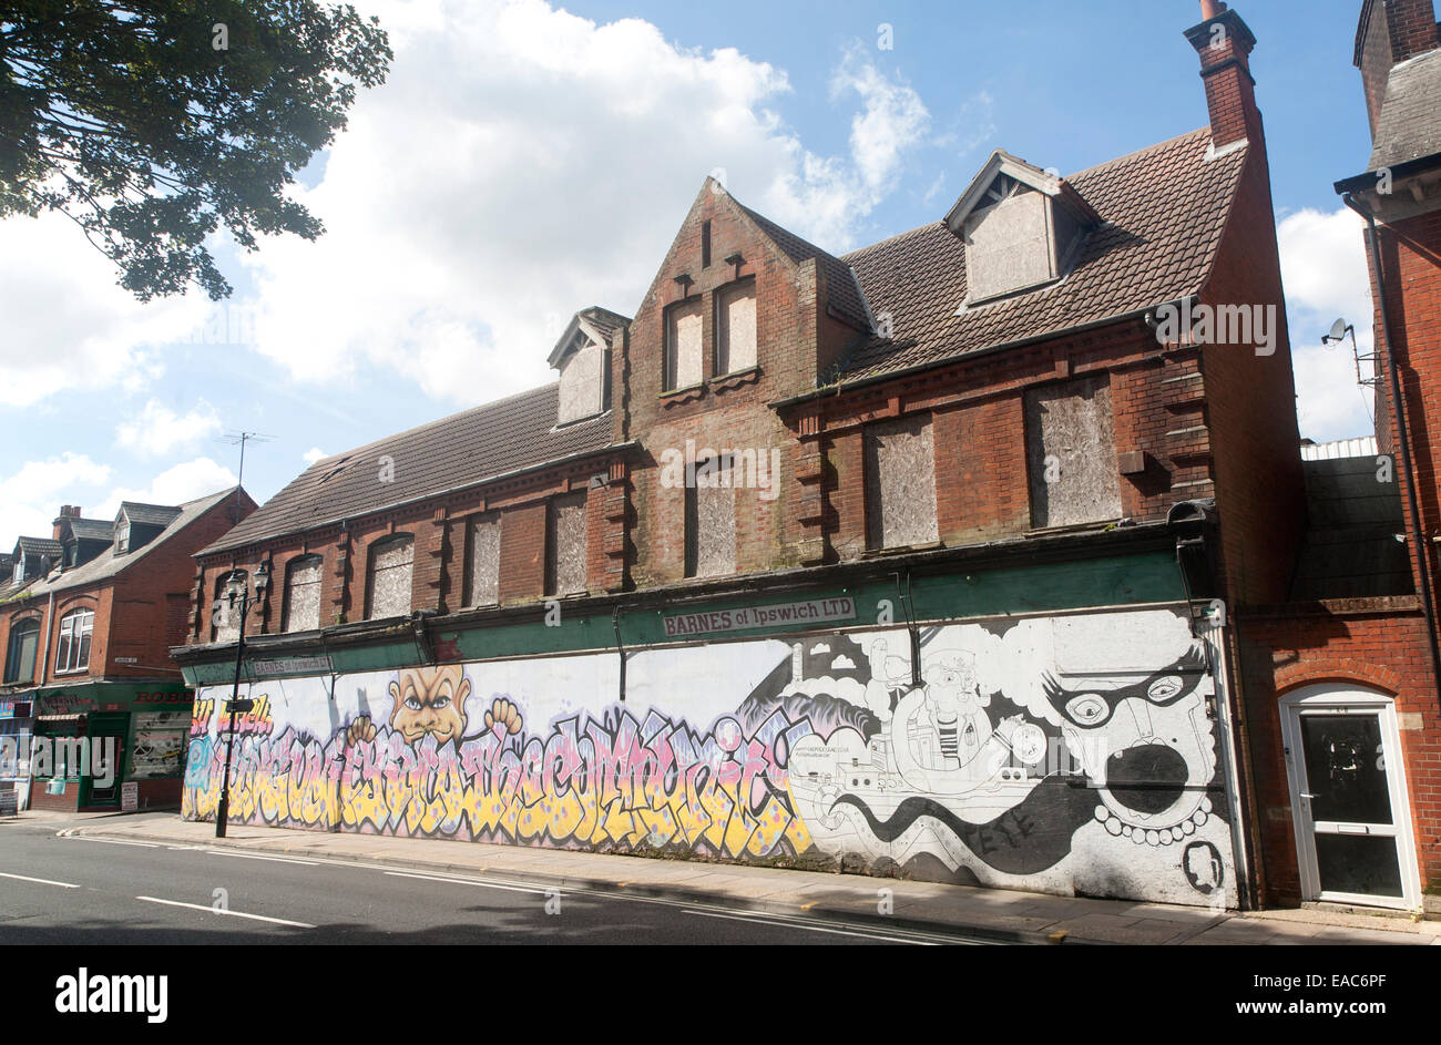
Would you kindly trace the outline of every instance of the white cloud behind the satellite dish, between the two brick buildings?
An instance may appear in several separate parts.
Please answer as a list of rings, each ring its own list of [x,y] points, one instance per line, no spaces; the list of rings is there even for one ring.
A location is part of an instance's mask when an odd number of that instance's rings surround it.
[[[1372,352],[1370,281],[1362,229],[1360,218],[1346,208],[1331,213],[1298,210],[1277,226],[1297,415],[1301,435],[1317,443],[1375,432],[1372,389],[1356,381],[1350,339],[1321,344],[1321,334],[1331,323],[1344,319],[1356,330],[1360,353]]]

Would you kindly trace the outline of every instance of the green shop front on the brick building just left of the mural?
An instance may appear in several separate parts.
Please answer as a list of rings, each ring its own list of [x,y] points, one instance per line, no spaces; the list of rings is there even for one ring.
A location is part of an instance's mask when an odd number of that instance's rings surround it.
[[[190,693],[177,682],[86,682],[36,690],[27,754],[35,809],[180,804]]]

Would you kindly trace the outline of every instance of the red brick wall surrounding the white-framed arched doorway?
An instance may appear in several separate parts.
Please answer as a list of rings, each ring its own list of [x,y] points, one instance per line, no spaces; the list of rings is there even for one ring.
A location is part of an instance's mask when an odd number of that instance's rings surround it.
[[[1422,888],[1441,891],[1441,715],[1417,611],[1275,613],[1239,628],[1267,904],[1301,897],[1278,696],[1316,682],[1357,683],[1396,699]]]

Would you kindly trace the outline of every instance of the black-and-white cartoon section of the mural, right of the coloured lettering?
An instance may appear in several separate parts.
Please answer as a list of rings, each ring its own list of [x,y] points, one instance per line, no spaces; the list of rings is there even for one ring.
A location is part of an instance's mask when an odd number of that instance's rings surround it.
[[[1215,683],[1180,614],[932,628],[921,686],[905,633],[844,641],[869,677],[794,673],[781,698],[857,703],[790,752],[823,850],[953,881],[1233,902]],[[813,667],[803,643],[794,664]]]

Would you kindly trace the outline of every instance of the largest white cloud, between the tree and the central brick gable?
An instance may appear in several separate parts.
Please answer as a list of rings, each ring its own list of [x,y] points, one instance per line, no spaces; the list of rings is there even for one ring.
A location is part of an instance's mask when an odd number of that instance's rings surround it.
[[[329,231],[245,258],[259,350],[300,381],[380,368],[461,402],[542,383],[574,310],[635,308],[709,172],[842,251],[928,121],[849,52],[833,86],[859,99],[850,151],[821,157],[769,108],[785,74],[735,49],[542,0],[369,9],[392,33],[391,79],[297,190]]]

